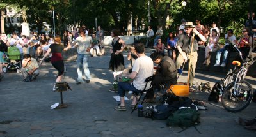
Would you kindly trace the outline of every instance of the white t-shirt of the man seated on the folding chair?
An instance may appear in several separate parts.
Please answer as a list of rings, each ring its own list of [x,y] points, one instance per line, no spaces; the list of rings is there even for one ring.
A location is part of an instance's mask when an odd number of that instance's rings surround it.
[[[154,73],[154,64],[150,57],[143,56],[139,57],[135,60],[132,71],[136,72],[137,75],[133,80],[133,85],[138,90],[143,90],[146,82],[145,79],[149,76],[152,76]],[[150,83],[147,85],[147,89],[149,89]]]

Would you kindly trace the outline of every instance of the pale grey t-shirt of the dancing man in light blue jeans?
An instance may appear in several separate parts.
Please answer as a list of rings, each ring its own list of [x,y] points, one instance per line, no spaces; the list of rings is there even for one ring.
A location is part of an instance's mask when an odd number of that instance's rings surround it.
[[[86,35],[85,39],[83,39],[81,36],[79,36],[76,38],[76,40],[74,42],[78,43],[78,45],[79,45],[79,47],[77,47],[78,54],[89,54],[89,52],[86,52],[86,49],[91,47],[91,43],[92,43],[91,36]]]

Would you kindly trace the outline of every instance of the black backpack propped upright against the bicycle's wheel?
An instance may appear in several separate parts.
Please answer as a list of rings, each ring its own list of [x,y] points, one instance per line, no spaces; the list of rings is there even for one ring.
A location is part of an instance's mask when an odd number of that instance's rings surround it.
[[[223,85],[223,82],[221,81],[216,82],[215,85],[212,87],[212,91],[208,97],[208,101],[218,102],[220,90],[221,92],[223,92],[224,90],[224,85]]]

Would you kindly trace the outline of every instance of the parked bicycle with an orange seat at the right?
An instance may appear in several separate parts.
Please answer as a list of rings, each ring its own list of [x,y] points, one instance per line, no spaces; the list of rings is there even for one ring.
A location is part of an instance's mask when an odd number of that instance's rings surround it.
[[[225,89],[221,96],[221,103],[228,112],[240,112],[244,110],[244,108],[250,105],[253,98],[252,85],[244,80],[244,77],[249,66],[254,63],[255,59],[252,59],[251,56],[249,61],[244,61],[242,53],[236,45],[234,45],[234,48],[239,53],[243,64],[239,61],[233,61],[232,64],[235,65],[234,70],[229,71],[223,80]]]

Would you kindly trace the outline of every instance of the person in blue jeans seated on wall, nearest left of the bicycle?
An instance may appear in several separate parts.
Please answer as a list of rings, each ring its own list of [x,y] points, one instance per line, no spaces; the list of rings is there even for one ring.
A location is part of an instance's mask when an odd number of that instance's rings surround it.
[[[236,41],[236,36],[234,36],[233,34],[233,30],[232,29],[228,29],[228,33],[225,34],[225,47],[221,48],[220,50],[218,50],[217,55],[216,55],[216,63],[214,64],[214,66],[221,66],[221,67],[225,67],[227,62],[228,62],[228,49],[227,47],[230,46],[230,41],[234,42]],[[229,47],[230,48],[230,47]],[[221,57],[221,53],[224,52],[224,56],[223,56],[223,62],[220,65],[220,57]]]

